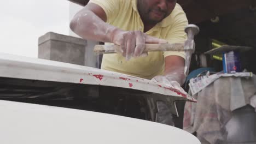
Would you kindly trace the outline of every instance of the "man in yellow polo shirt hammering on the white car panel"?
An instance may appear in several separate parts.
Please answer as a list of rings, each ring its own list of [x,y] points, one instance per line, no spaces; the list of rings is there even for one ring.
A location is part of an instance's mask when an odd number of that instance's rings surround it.
[[[71,21],[84,39],[120,45],[102,69],[164,82],[184,83],[184,52],[143,53],[145,44],[184,43],[187,17],[177,0],[91,0]]]

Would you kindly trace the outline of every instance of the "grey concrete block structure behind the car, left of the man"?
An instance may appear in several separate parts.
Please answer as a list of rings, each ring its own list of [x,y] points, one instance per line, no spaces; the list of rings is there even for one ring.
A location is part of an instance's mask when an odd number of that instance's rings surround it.
[[[38,40],[38,58],[85,65],[87,41],[48,32]]]

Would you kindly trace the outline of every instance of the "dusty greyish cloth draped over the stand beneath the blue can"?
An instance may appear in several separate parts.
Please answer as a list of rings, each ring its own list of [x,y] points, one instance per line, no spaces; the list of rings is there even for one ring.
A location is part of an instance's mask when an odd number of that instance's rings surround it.
[[[227,133],[225,124],[232,111],[251,104],[256,106],[256,76],[221,77],[202,89],[193,97],[197,103],[186,103],[184,110],[184,130],[196,132],[201,143],[221,143]]]

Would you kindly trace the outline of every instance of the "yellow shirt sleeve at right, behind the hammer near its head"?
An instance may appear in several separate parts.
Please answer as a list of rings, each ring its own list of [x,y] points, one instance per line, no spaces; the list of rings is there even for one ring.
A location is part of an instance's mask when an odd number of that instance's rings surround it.
[[[167,33],[166,40],[169,43],[184,43],[187,40],[187,33],[185,33],[184,29],[188,25],[187,16],[184,13],[181,6],[177,5],[176,15],[173,17],[173,25],[171,26],[170,31]],[[185,52],[177,52],[177,51],[168,51],[163,52],[164,57],[167,56],[180,56],[185,58]]]

